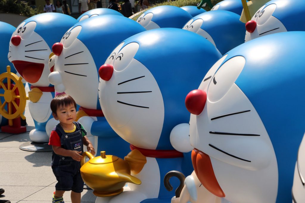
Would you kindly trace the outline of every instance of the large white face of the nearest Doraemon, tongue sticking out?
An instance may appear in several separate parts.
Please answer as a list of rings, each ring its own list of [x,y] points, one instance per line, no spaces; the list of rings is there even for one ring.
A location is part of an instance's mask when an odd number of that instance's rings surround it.
[[[218,182],[230,202],[275,202],[278,168],[272,143],[260,116],[235,84],[246,59],[226,58],[212,66],[199,86],[207,98],[203,111],[190,118],[191,144],[198,150],[192,157],[194,169],[207,189]],[[213,170],[203,170],[209,162]],[[216,183],[203,181],[213,174]]]

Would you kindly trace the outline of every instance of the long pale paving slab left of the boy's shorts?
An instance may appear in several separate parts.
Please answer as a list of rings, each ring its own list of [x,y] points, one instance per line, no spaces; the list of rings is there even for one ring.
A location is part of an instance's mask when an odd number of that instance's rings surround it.
[[[52,171],[49,173],[0,173],[0,184],[7,186],[48,186],[56,181]]]

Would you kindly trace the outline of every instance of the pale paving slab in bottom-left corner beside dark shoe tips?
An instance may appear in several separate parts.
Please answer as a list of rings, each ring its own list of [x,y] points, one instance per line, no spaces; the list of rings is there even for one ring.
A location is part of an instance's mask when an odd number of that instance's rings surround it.
[[[1,199],[6,199],[10,201],[22,200],[28,196],[34,194],[35,192],[41,190],[44,187],[39,186],[5,186],[2,185],[0,188],[4,188],[5,197]],[[15,201],[16,202],[16,201]]]

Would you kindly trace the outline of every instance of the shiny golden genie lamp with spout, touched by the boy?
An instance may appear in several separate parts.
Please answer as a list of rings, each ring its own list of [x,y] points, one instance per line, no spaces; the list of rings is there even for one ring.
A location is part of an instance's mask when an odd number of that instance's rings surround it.
[[[105,151],[101,151],[101,156],[97,157],[88,151],[82,155],[81,177],[86,185],[94,190],[95,196],[108,197],[120,194],[126,183],[141,184],[141,180],[130,175],[130,166],[122,158],[106,155]],[[90,159],[88,162],[86,156]]]

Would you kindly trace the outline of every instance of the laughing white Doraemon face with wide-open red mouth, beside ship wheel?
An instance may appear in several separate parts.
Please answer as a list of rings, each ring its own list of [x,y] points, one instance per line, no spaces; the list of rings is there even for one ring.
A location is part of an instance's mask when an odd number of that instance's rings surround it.
[[[21,23],[9,42],[8,59],[17,72],[34,86],[49,86],[49,55],[52,52],[45,40],[34,30],[36,22]],[[16,42],[17,41],[17,42]],[[14,42],[14,44],[13,44]]]

